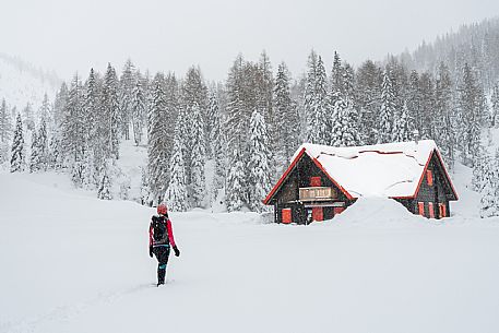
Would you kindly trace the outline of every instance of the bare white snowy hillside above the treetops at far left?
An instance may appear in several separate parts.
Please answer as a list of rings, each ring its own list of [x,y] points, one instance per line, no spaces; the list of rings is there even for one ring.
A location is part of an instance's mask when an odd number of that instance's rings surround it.
[[[22,60],[0,53],[0,100],[21,111],[27,103],[37,110],[47,93],[54,100],[60,81],[55,74],[44,73]]]

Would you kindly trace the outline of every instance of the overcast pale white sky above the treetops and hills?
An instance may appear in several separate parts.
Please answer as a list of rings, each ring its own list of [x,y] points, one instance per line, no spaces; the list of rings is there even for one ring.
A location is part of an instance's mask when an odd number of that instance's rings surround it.
[[[183,75],[199,64],[224,80],[235,57],[265,49],[294,75],[314,48],[358,64],[413,50],[421,40],[499,14],[499,0],[0,0],[0,52],[63,79],[127,58]]]

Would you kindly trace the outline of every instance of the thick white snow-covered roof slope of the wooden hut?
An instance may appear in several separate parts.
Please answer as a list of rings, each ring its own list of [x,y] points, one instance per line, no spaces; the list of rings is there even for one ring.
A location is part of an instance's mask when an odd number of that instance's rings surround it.
[[[413,197],[425,166],[437,145],[432,140],[355,147],[305,143],[305,153],[352,198]]]

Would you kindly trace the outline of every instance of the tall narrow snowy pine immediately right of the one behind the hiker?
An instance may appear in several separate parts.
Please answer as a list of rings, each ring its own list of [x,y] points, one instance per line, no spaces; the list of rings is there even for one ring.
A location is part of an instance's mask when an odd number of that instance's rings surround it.
[[[191,190],[192,205],[202,207],[206,197],[206,181],[204,175],[204,165],[206,163],[206,144],[204,141],[204,121],[198,103],[194,102],[190,110],[191,114],[191,134],[192,134],[192,153],[191,153]]]

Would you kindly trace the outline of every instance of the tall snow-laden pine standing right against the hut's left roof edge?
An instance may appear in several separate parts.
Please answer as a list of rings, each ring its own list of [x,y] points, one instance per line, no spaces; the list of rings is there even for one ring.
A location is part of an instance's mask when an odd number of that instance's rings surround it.
[[[269,166],[269,135],[266,133],[265,119],[254,110],[250,120],[250,183],[249,204],[256,212],[265,211],[262,200],[271,189]]]

